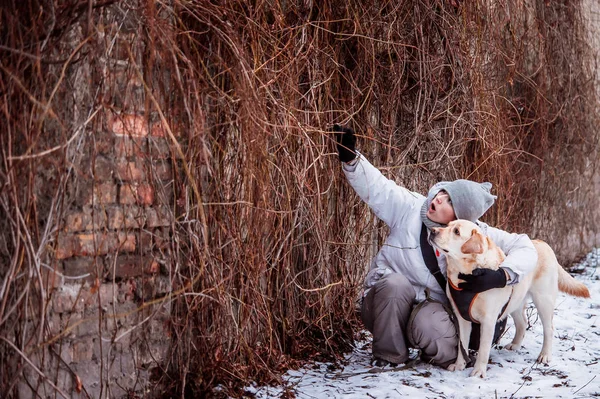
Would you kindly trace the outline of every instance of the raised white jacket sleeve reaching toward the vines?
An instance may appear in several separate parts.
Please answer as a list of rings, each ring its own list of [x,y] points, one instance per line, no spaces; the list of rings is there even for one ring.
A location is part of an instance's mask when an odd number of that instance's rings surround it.
[[[358,154],[354,165],[343,164],[344,174],[358,196],[390,228],[423,202],[423,196],[398,186]]]

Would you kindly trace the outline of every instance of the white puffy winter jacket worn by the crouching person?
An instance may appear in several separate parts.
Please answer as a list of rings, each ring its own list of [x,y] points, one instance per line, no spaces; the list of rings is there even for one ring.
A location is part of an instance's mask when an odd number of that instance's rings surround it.
[[[425,299],[425,288],[429,288],[433,298],[447,302],[446,293],[427,269],[421,254],[419,239],[423,222],[420,210],[426,198],[398,186],[360,154],[355,164],[342,165],[358,196],[390,228],[389,236],[371,262],[364,294],[386,274],[402,273],[412,283],[418,302]],[[506,253],[502,267],[509,269],[513,277],[509,284],[515,284],[535,267],[537,251],[527,235],[507,233],[480,221],[477,224]],[[446,259],[443,254],[436,255],[445,275]]]

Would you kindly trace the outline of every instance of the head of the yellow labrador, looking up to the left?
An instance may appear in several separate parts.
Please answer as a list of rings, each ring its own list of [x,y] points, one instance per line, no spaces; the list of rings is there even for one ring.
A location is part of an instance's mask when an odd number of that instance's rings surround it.
[[[488,250],[489,240],[468,220],[454,220],[447,227],[431,229],[433,245],[448,258],[475,259]]]

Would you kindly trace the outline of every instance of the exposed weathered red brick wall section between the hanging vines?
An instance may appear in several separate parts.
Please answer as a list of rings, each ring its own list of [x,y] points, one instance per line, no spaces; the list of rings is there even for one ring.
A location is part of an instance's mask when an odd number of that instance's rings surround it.
[[[104,105],[69,149],[72,176],[50,249],[53,272],[45,274],[50,338],[31,357],[48,379],[26,368],[23,397],[55,397],[57,389],[67,397],[146,395],[170,342],[162,298],[171,290],[179,160],[136,72],[145,45],[139,23],[105,18],[96,26],[104,32],[97,64],[72,70],[84,82],[74,96],[86,102],[99,90]],[[44,181],[38,185],[43,192]]]

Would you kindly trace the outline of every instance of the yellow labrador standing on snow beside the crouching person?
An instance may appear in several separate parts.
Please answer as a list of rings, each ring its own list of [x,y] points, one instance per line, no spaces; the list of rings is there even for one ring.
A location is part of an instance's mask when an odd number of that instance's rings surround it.
[[[468,348],[471,322],[461,316],[450,292],[450,286],[457,289],[458,284],[462,282],[458,279],[459,273],[471,274],[477,268],[497,270],[505,255],[489,237],[481,233],[476,224],[467,220],[455,220],[447,227],[436,228],[432,232],[434,246],[446,255],[448,263],[446,294],[458,319],[460,342],[463,348]],[[549,363],[552,357],[552,316],[558,291],[584,298],[590,296],[587,287],[576,281],[558,264],[554,251],[548,244],[533,240],[533,245],[538,252],[538,262],[531,273],[515,285],[475,294],[470,302],[468,308],[470,318],[481,324],[479,354],[471,376],[485,378],[494,327],[498,320],[509,314],[515,322],[516,331],[515,337],[506,348],[521,347],[525,337],[525,305],[528,294],[533,299],[544,329],[544,343],[537,359],[540,363]],[[456,362],[451,364],[448,370],[464,370],[465,366],[466,359],[459,350]]]

